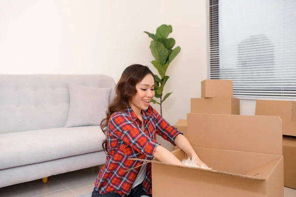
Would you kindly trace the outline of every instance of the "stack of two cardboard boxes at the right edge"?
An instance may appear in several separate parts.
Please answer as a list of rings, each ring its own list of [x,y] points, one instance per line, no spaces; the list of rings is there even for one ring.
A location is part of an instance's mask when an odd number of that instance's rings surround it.
[[[282,118],[285,186],[296,189],[296,101],[257,100],[255,115]]]

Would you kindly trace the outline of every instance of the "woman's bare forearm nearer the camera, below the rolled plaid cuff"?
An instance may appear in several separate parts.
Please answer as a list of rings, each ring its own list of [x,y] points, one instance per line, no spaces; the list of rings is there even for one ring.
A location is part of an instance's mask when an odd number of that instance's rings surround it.
[[[170,151],[168,151],[167,149],[165,149],[160,145],[156,147],[153,156],[159,162],[185,166],[185,164],[183,164],[180,160],[178,160],[178,158],[176,158],[175,155],[173,155]]]

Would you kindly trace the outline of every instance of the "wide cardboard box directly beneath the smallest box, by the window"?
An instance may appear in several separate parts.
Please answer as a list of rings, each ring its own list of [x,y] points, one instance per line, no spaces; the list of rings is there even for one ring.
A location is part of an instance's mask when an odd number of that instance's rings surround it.
[[[191,98],[191,113],[240,114],[240,100],[236,98]]]

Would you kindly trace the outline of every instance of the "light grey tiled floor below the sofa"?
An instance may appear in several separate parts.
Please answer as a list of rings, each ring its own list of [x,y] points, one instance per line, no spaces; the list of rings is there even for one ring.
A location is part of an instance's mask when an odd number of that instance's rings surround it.
[[[75,197],[92,192],[100,166],[86,168],[41,180],[0,188],[0,197]],[[285,188],[285,197],[296,197],[296,190]]]

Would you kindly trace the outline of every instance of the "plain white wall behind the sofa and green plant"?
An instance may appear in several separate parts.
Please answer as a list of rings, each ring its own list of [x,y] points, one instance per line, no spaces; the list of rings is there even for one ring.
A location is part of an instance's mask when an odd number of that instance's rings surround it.
[[[170,24],[182,50],[167,71],[164,91],[173,94],[163,115],[175,124],[207,77],[207,10],[206,0],[0,0],[0,74],[102,73],[117,81],[134,63],[155,72],[143,32]]]

